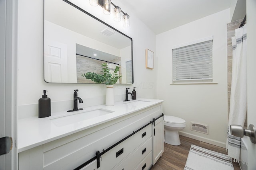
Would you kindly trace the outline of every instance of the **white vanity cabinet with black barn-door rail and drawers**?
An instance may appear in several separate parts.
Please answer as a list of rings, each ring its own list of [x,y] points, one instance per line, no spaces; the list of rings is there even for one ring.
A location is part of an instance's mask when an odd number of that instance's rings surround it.
[[[74,169],[96,157],[96,151],[102,153],[111,146],[113,147],[101,155],[99,168],[96,159],[80,168],[82,170],[148,170],[163,152],[161,115],[162,103],[159,103],[25,150],[18,154],[19,170]],[[160,118],[150,123],[157,117]],[[122,139],[125,140],[120,142]],[[116,143],[118,145],[114,145]]]

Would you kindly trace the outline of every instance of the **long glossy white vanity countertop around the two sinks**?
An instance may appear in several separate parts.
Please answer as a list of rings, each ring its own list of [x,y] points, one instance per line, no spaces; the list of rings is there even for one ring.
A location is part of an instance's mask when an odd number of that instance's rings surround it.
[[[143,101],[146,101],[146,102],[143,102]],[[24,150],[37,147],[39,145],[48,143],[50,141],[60,139],[62,137],[71,135],[73,133],[88,129],[90,127],[94,127],[96,125],[100,125],[107,121],[117,119],[118,117],[122,117],[130,113],[134,113],[141,109],[145,109],[146,107],[150,107],[162,102],[163,100],[137,99],[137,100],[131,100],[128,102],[116,102],[114,106],[98,105],[98,106],[86,107],[80,111],[74,111],[74,112],[62,111],[58,113],[52,113],[50,117],[44,117],[44,118],[29,117],[25,119],[19,119],[18,120],[18,152],[22,152]],[[76,121],[74,123],[68,122],[66,124],[65,123],[62,124],[62,122],[58,124],[58,122],[56,123],[57,119],[53,119],[57,117],[62,117],[63,115],[69,115],[69,114],[76,115],[76,113],[95,110],[95,109],[103,109],[103,110],[106,109],[113,112],[105,115],[101,115],[98,117],[85,119],[82,121]],[[69,115],[68,117],[71,118],[71,115]]]

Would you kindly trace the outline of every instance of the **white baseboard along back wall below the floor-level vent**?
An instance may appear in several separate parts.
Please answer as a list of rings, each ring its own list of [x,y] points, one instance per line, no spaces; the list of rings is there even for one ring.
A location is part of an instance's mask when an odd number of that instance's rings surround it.
[[[200,137],[198,135],[194,135],[194,134],[183,132],[183,131],[179,131],[179,135],[189,137],[191,139],[196,139],[198,141],[209,143],[209,144],[212,144],[212,145],[215,145],[215,146],[218,146],[218,147],[226,148],[226,143],[224,143],[224,142],[215,141],[215,140],[208,139],[208,138],[205,138],[205,137]]]

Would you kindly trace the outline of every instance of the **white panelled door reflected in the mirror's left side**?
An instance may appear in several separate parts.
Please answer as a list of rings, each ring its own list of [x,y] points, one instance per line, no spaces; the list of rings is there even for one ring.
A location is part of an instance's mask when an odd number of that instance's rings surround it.
[[[44,41],[44,80],[67,82],[67,45],[56,41]]]

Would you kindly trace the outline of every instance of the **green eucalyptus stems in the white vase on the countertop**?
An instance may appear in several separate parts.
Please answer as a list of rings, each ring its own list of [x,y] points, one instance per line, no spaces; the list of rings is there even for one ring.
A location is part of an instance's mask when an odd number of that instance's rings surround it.
[[[102,63],[102,74],[87,72],[86,74],[82,74],[82,76],[86,79],[92,80],[95,83],[105,83],[106,85],[113,85],[117,82],[118,78],[122,77],[117,74],[118,71],[119,67],[116,66],[114,74],[111,74],[108,68],[108,64]]]

